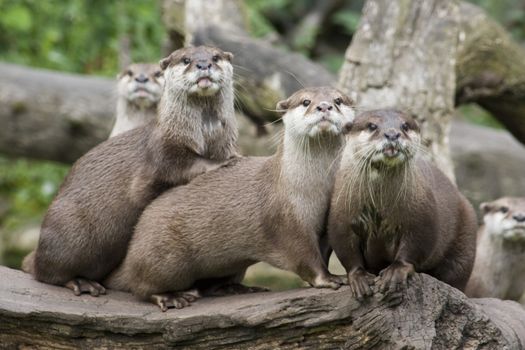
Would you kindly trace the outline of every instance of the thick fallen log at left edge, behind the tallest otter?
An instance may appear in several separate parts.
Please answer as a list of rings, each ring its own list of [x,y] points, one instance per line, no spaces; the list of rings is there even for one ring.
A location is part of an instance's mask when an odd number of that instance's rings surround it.
[[[105,140],[114,82],[0,63],[0,151],[70,163]]]

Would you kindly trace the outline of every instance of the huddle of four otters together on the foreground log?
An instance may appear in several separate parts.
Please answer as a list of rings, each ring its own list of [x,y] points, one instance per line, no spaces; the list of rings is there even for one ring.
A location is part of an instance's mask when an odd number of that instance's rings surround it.
[[[25,271],[76,295],[130,291],[163,311],[257,290],[240,282],[259,261],[317,288],[349,284],[358,299],[373,284],[399,292],[414,272],[465,289],[476,215],[423,156],[410,115],[355,116],[337,89],[305,88],[277,104],[277,152],[243,157],[232,58],[189,47],[121,74],[112,137],[73,165]],[[328,271],[331,249],[347,278]]]

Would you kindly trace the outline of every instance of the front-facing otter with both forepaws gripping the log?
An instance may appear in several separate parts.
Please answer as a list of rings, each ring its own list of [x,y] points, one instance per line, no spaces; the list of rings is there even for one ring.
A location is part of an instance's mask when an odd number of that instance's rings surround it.
[[[460,290],[470,276],[475,212],[422,156],[420,139],[416,121],[396,109],[363,112],[347,135],[327,232],[357,299],[374,283],[399,297],[416,271]]]

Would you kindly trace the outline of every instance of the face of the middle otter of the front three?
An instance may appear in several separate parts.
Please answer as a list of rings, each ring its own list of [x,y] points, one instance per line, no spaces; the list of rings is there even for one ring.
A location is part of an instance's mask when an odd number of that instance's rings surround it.
[[[277,103],[283,122],[299,137],[339,136],[354,120],[354,102],[331,87],[306,88]]]

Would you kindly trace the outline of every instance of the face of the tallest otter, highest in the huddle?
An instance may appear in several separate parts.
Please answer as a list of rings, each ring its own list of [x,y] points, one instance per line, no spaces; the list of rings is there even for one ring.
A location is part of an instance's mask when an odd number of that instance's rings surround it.
[[[160,61],[166,88],[196,96],[214,96],[232,82],[233,54],[215,47],[185,47]]]

